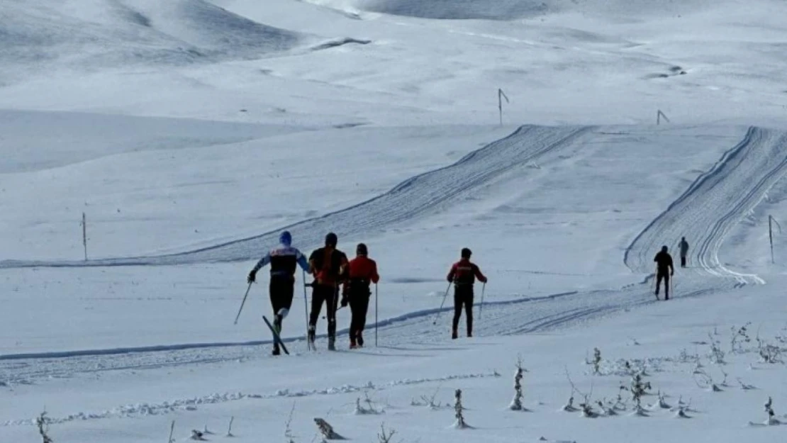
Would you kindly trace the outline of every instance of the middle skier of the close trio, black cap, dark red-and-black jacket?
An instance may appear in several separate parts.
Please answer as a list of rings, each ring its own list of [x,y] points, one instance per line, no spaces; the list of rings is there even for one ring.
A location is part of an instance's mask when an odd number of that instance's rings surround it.
[[[336,249],[338,238],[333,232],[325,236],[325,246],[315,249],[309,256],[309,273],[314,275],[312,283],[312,312],[309,314],[309,341],[314,343],[317,319],[325,303],[328,319],[328,349],[335,349],[336,308],[339,284],[345,275],[347,256]]]

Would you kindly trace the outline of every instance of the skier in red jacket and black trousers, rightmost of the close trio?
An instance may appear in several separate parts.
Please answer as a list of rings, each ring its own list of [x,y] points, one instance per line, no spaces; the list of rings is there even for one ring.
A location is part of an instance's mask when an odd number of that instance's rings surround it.
[[[356,257],[350,260],[347,272],[347,281],[342,289],[342,306],[349,303],[353,312],[353,319],[349,324],[350,349],[364,346],[364,327],[366,327],[366,312],[369,309],[371,283],[377,283],[380,276],[377,274],[377,263],[368,258],[369,251],[363,243],[355,249]]]

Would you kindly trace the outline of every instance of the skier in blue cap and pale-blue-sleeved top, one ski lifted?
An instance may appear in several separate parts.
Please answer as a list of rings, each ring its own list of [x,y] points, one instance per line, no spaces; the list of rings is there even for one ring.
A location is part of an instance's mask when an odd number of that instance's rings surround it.
[[[265,257],[262,257],[246,279],[249,283],[255,282],[257,271],[266,264],[271,264],[271,282],[268,289],[271,293],[273,327],[276,334],[281,334],[282,322],[293,304],[296,266],[301,265],[301,269],[309,271],[306,257],[297,248],[292,247],[292,241],[293,238],[289,231],[279,234],[279,247],[272,249]],[[278,356],[279,353],[279,343],[274,341],[273,355]]]

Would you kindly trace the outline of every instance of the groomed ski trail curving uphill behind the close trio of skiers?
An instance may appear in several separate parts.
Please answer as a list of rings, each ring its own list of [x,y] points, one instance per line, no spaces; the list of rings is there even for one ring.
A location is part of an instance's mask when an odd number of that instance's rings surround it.
[[[233,242],[157,257],[87,261],[4,260],[0,261],[0,268],[150,266],[252,260],[259,258],[260,251],[275,244],[282,229],[291,231],[301,245],[320,245],[329,231],[336,232],[341,238],[438,212],[507,172],[526,168],[527,164],[548,153],[572,146],[592,130],[593,127],[519,127],[512,135],[475,150],[454,164],[416,175],[371,200]]]

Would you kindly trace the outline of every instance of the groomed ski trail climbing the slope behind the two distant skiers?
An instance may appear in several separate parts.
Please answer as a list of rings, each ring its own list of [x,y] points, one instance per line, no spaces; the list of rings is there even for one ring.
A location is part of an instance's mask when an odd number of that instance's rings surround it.
[[[687,270],[695,275],[733,279],[734,286],[764,283],[757,275],[726,268],[719,262],[719,249],[730,229],[763,200],[785,173],[787,135],[749,127],[737,146],[637,235],[626,249],[626,266],[634,272],[652,273],[653,256],[661,245],[669,246],[678,260],[678,242],[685,236],[690,245]]]

